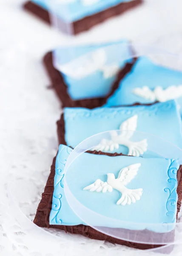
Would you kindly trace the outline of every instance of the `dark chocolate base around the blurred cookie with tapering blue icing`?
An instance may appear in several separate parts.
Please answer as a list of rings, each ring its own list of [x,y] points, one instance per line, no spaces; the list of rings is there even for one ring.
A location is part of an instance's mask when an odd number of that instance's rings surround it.
[[[43,58],[43,64],[46,67],[48,76],[51,79],[51,87],[55,90],[58,98],[62,102],[62,107],[82,107],[82,108],[97,108],[104,105],[114,91],[119,87],[119,82],[129,73],[136,62],[136,59],[132,63],[127,63],[125,67],[119,72],[116,81],[114,82],[111,92],[105,98],[93,98],[72,100],[68,94],[68,87],[66,86],[61,73],[54,68],[53,65],[53,53],[48,52]]]

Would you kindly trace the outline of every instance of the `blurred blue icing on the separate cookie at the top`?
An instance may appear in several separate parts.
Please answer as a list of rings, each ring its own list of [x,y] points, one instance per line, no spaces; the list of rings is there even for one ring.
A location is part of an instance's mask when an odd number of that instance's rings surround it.
[[[55,8],[57,16],[59,16],[66,22],[74,22],[84,17],[101,12],[112,6],[116,6],[119,3],[131,1],[132,0],[98,0],[96,3],[84,5],[83,2],[86,2],[86,0],[67,1],[70,3],[66,3],[65,1],[65,3],[62,4],[61,1],[60,3],[58,2],[58,4],[54,3],[54,1],[51,1],[51,4],[48,4],[47,0],[32,0],[32,2],[38,4],[46,10],[49,10],[49,6],[52,6],[52,8]]]

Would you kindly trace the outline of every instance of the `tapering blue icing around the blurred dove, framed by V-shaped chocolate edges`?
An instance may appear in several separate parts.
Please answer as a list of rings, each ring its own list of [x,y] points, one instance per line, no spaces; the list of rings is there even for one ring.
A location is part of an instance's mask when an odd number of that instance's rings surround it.
[[[56,62],[60,65],[68,65],[72,60],[77,61],[78,58],[83,57],[91,61],[92,56],[89,55],[92,52],[102,49],[106,56],[106,67],[112,67],[117,65],[119,69],[122,69],[127,62],[131,61],[131,49],[128,47],[128,40],[122,40],[114,43],[99,44],[92,46],[78,46],[78,47],[63,47],[54,50],[54,56]],[[97,57],[97,53],[95,58]],[[75,65],[74,70],[71,71],[73,74],[75,69],[80,68],[81,60]],[[97,65],[97,59],[92,63],[94,67]],[[86,69],[86,67],[83,67]],[[60,70],[61,71],[61,70]],[[65,84],[68,87],[68,94],[73,100],[79,99],[91,99],[105,97],[110,91],[111,87],[116,80],[117,75],[114,74],[110,77],[105,77],[102,70],[96,70],[84,77],[75,78],[71,75],[62,72]]]

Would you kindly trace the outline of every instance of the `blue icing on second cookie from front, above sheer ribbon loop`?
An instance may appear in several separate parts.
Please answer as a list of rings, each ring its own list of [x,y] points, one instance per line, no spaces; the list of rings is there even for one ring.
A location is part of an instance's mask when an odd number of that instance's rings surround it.
[[[65,141],[75,147],[86,138],[119,129],[122,122],[137,115],[136,131],[154,134],[182,148],[182,123],[176,102],[171,100],[151,106],[114,108],[65,108]],[[132,137],[131,137],[132,140]],[[128,154],[128,148],[121,148]],[[144,153],[146,156],[146,153]]]

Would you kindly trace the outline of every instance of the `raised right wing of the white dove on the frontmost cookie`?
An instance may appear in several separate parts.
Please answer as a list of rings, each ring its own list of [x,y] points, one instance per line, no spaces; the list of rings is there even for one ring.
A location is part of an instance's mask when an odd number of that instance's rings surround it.
[[[128,167],[122,168],[117,179],[122,182],[123,185],[127,185],[137,175],[140,166],[141,163],[135,163]]]

